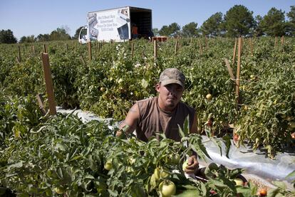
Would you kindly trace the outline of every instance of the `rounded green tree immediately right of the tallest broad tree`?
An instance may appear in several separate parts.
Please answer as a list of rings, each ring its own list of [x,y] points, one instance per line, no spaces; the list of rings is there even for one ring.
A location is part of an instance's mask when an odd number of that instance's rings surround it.
[[[284,11],[271,8],[263,17],[259,28],[262,28],[267,36],[284,36],[286,31]]]

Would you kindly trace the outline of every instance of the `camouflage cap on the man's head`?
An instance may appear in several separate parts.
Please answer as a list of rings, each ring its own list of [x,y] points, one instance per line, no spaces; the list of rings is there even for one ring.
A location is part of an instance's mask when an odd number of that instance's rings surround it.
[[[177,68],[166,68],[161,73],[159,82],[162,85],[177,83],[185,88],[185,75]]]

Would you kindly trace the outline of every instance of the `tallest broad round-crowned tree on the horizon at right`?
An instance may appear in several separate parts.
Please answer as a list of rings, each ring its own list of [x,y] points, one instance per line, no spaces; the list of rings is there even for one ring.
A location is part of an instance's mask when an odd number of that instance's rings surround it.
[[[249,36],[254,28],[253,11],[249,11],[245,6],[233,6],[224,16],[224,28],[227,36]]]

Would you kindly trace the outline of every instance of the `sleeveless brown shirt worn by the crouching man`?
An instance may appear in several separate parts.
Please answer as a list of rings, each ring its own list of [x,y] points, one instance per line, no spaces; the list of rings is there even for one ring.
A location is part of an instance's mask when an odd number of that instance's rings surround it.
[[[157,132],[164,132],[167,138],[180,142],[178,124],[183,129],[187,115],[190,117],[190,128],[192,128],[195,110],[183,102],[179,102],[172,112],[161,110],[157,97],[140,100],[136,104],[140,113],[136,127],[138,139],[148,142],[149,137],[156,136]]]

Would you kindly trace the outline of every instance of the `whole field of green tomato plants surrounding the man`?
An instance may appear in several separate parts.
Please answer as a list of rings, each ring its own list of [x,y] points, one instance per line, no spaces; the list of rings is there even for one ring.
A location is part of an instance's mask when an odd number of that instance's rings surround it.
[[[93,43],[91,60],[88,46],[76,41],[45,44],[57,105],[120,121],[135,100],[156,95],[162,70],[175,67],[187,77],[183,101],[197,110],[201,134],[207,133],[217,144],[223,140],[228,147],[234,127],[237,145],[252,144],[271,158],[280,151],[294,152],[294,38],[285,38],[284,43],[274,38],[244,39],[238,106],[235,80],[224,63],[227,58],[235,75],[234,43],[229,38],[171,39],[157,43],[156,58],[148,41],[133,41],[133,47],[130,42]],[[42,116],[36,95],[46,92],[43,47],[43,43],[0,46],[0,194],[4,186],[21,196],[165,196],[163,188],[171,188],[170,181],[183,196],[257,194],[251,183],[234,184],[239,169],[208,168],[205,173],[214,179],[206,183],[185,178],[181,173],[185,154],[194,149],[206,157],[200,135],[183,136],[190,147],[170,139],[143,143],[134,137],[115,138],[115,131],[103,122],[83,124],[73,115]],[[182,159],[171,159],[172,155]],[[294,195],[281,182],[276,186],[269,195]]]

